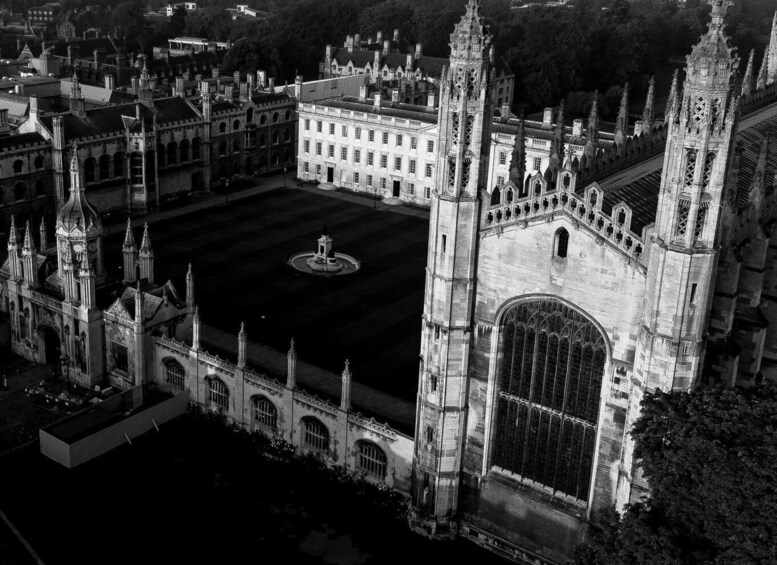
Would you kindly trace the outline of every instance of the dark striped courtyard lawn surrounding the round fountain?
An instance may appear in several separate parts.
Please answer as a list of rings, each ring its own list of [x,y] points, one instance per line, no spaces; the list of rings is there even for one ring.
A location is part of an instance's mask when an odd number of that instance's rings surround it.
[[[300,359],[339,373],[348,358],[354,380],[414,400],[428,220],[383,208],[275,190],[157,222],[156,280],[172,279],[183,297],[191,262],[204,323],[237,335],[244,320],[249,340],[281,351],[293,336]],[[362,262],[357,273],[316,277],[287,264],[315,251],[324,224],[334,250]],[[105,249],[117,273],[122,240],[114,229]]]

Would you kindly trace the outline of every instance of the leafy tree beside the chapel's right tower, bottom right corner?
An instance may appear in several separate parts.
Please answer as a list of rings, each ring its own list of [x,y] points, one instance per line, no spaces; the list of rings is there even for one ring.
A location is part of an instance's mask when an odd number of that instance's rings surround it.
[[[601,515],[578,565],[777,562],[777,385],[657,391],[642,410],[651,496]]]

